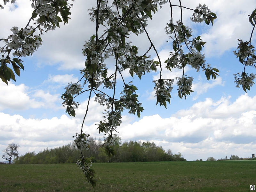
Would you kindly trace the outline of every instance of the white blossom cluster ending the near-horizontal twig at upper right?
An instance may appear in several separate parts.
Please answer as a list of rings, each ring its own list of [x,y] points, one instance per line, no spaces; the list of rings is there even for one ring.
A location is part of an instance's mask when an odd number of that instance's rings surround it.
[[[211,10],[206,6],[205,4],[199,4],[198,7],[196,7],[195,12],[192,15],[192,18],[190,19],[193,22],[201,23],[204,20],[207,20],[207,16],[209,16],[209,13]]]

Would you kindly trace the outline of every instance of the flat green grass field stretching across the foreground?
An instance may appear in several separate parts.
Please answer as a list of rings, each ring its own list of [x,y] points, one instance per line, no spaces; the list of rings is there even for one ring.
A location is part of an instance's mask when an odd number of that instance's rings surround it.
[[[256,161],[94,163],[97,188],[76,164],[0,165],[0,192],[250,191]]]

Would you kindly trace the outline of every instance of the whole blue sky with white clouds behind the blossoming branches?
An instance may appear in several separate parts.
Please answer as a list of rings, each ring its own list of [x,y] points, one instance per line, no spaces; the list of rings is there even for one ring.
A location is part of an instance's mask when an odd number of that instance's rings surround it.
[[[60,96],[68,82],[80,79],[79,70],[84,68],[85,60],[83,44],[95,33],[94,23],[84,11],[95,5],[89,0],[85,2],[75,1],[69,24],[62,24],[55,31],[44,34],[43,44],[33,57],[23,58],[25,71],[21,71],[17,82],[12,81],[8,86],[0,82],[0,154],[10,142],[21,145],[20,154],[66,145],[79,132],[88,95],[78,98],[81,105],[76,118],[65,113]],[[6,18],[0,20],[1,38],[10,35],[13,26],[22,28],[26,25],[32,12],[30,3],[17,0],[16,7],[8,4],[0,10],[0,18]],[[175,3],[178,1],[173,1]],[[139,89],[137,93],[144,111],[140,119],[124,112],[123,124],[118,131],[123,141],[154,141],[174,153],[180,152],[190,161],[206,160],[210,156],[218,159],[232,154],[249,157],[256,152],[256,88],[253,86],[245,93],[242,88],[235,87],[233,74],[241,72],[243,66],[232,51],[236,50],[237,39],[247,41],[250,38],[252,25],[247,15],[254,10],[256,2],[182,1],[184,6],[191,8],[204,3],[218,16],[214,26],[192,23],[190,11],[184,11],[184,23],[192,28],[193,36],[201,35],[207,42],[203,49],[206,63],[218,68],[220,76],[216,81],[208,82],[204,72],[187,68],[186,74],[194,77],[194,92],[186,100],[180,100],[174,86],[171,105],[165,109],[156,106],[154,99],[152,81],[158,78],[159,72],[147,73],[141,80],[124,73],[125,81],[133,81]],[[174,11],[178,13],[174,20],[178,20],[179,10]],[[162,61],[172,51],[170,44],[166,43],[168,36],[164,30],[170,19],[169,12],[168,5],[165,5],[153,15],[147,27]],[[145,34],[134,35],[130,40],[141,53],[148,49]],[[255,35],[255,44],[254,40]],[[150,54],[156,59],[154,52]],[[111,60],[108,64],[109,70],[113,70]],[[253,68],[247,68],[247,71],[255,73]],[[181,76],[181,71],[163,71],[163,78],[175,79],[176,76]],[[122,87],[120,77],[117,84]],[[85,131],[98,139],[102,135],[98,134],[94,124],[102,119],[103,108],[92,102],[89,109]]]

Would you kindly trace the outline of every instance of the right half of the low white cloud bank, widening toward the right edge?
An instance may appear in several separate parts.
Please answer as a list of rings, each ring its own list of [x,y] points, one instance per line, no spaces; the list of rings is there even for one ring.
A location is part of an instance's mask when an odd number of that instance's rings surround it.
[[[118,131],[124,140],[151,140],[165,149],[187,154],[249,156],[248,147],[255,148],[256,96],[241,95],[233,103],[230,97],[214,102],[208,98],[169,118],[144,116],[140,121],[123,126]],[[244,150],[243,150],[244,149]],[[246,155],[246,153],[249,153]],[[221,156],[222,155],[222,156]]]

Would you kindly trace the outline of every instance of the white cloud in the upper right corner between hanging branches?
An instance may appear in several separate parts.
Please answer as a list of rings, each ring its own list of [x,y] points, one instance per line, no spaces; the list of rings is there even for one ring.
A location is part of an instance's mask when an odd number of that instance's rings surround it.
[[[249,41],[253,26],[248,21],[248,15],[255,9],[255,1],[206,0],[205,4],[218,16],[214,20],[213,27],[201,35],[203,40],[207,42],[205,44],[207,56],[219,56],[230,49],[235,51],[237,39]]]

